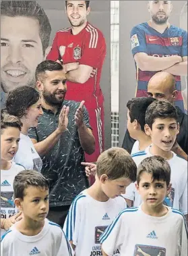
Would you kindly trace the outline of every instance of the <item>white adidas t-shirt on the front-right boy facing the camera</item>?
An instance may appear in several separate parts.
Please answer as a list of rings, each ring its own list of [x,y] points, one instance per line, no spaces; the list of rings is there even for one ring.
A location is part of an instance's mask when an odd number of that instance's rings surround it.
[[[162,217],[153,217],[137,208],[127,208],[100,237],[109,256],[115,248],[121,256],[187,256],[187,228],[183,214],[168,207]]]

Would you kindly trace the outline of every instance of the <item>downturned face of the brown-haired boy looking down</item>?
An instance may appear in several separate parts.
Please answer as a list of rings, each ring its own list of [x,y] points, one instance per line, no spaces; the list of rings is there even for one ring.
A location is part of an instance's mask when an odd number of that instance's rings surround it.
[[[101,179],[102,177],[100,177]],[[129,186],[131,180],[129,178],[119,178],[116,180],[109,180],[106,178],[102,181],[102,191],[108,198],[115,198],[121,194],[125,194],[125,188]]]

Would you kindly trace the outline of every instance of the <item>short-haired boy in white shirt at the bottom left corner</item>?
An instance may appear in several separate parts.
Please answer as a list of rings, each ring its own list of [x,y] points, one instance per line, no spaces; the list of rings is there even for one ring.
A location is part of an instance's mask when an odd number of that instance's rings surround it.
[[[46,219],[49,211],[49,182],[34,170],[22,171],[13,181],[15,205],[23,218],[1,238],[3,256],[72,256],[61,227]]]

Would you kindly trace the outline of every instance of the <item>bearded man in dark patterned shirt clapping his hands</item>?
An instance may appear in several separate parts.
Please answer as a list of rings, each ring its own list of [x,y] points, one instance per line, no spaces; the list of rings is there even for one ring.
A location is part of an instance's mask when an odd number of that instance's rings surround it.
[[[29,136],[50,182],[48,218],[63,227],[73,199],[88,186],[81,162],[84,152],[94,152],[95,140],[84,101],[64,100],[67,85],[60,63],[42,61],[36,68],[36,87],[44,114]]]

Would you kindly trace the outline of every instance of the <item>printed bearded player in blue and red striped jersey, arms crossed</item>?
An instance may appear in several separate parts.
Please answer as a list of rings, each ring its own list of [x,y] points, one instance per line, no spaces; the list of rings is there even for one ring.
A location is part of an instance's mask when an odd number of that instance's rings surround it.
[[[184,111],[181,76],[187,76],[187,32],[170,25],[172,1],[149,1],[151,20],[131,30],[131,49],[137,70],[136,97],[146,97],[150,78],[158,71],[175,76],[175,105]]]

